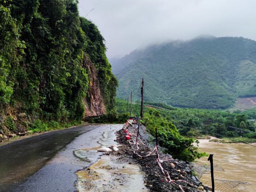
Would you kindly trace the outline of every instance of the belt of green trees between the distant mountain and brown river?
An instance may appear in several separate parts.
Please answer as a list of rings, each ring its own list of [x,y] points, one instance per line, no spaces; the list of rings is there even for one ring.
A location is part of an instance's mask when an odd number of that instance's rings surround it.
[[[116,104],[116,108],[120,112],[127,107],[125,100],[118,99]],[[144,109],[145,116],[148,116],[151,110],[148,109],[149,106],[158,108],[157,113],[154,114],[156,117],[151,116],[152,121],[160,116],[161,118],[158,121],[175,125],[179,133],[188,138],[200,136],[228,137],[232,142],[240,140],[246,142],[248,139],[256,139],[256,124],[253,120],[250,120],[255,118],[254,110],[230,113],[224,110],[174,108],[164,104],[161,106],[160,103],[146,106]],[[140,112],[140,104],[133,104],[133,108],[133,115]],[[154,130],[151,130],[151,132],[154,132]]]

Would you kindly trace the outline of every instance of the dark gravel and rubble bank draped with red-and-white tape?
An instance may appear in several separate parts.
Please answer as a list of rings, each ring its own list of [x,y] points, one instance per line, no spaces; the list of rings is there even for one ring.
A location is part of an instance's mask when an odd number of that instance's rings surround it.
[[[124,132],[127,130],[127,132]],[[147,142],[146,128],[140,126],[136,144],[138,125],[128,126],[116,132],[116,141],[121,145],[117,152],[119,160],[139,164],[145,172],[145,186],[152,192],[210,192],[196,176],[192,175],[192,164],[156,150]],[[126,136],[129,135],[129,140]],[[154,150],[155,149],[155,150]],[[152,152],[154,150],[154,152]],[[158,151],[158,152],[157,152]],[[159,157],[159,158],[158,158]]]

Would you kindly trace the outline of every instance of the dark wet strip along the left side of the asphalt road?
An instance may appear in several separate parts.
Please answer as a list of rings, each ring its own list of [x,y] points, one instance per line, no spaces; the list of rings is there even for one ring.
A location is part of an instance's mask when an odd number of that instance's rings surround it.
[[[60,149],[92,126],[48,132],[0,146],[0,188],[20,184],[42,168]]]

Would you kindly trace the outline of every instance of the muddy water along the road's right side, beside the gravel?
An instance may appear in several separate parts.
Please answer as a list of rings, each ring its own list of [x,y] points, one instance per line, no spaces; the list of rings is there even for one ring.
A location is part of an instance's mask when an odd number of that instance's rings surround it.
[[[86,148],[74,151],[74,155],[79,159],[92,162],[101,147],[108,147],[116,144],[114,132],[120,128],[114,128],[102,133],[102,138],[98,140],[99,147]],[[103,153],[102,153],[103,154]],[[118,162],[114,156],[101,156],[101,158],[88,169],[76,173],[78,182],[76,183],[79,192],[147,192],[144,186],[144,173],[140,167],[134,164]]]

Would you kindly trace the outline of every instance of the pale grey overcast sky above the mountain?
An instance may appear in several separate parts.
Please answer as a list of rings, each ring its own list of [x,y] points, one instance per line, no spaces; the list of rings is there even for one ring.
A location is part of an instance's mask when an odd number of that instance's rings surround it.
[[[256,0],[79,0],[98,26],[108,58],[136,48],[208,34],[256,40]]]

